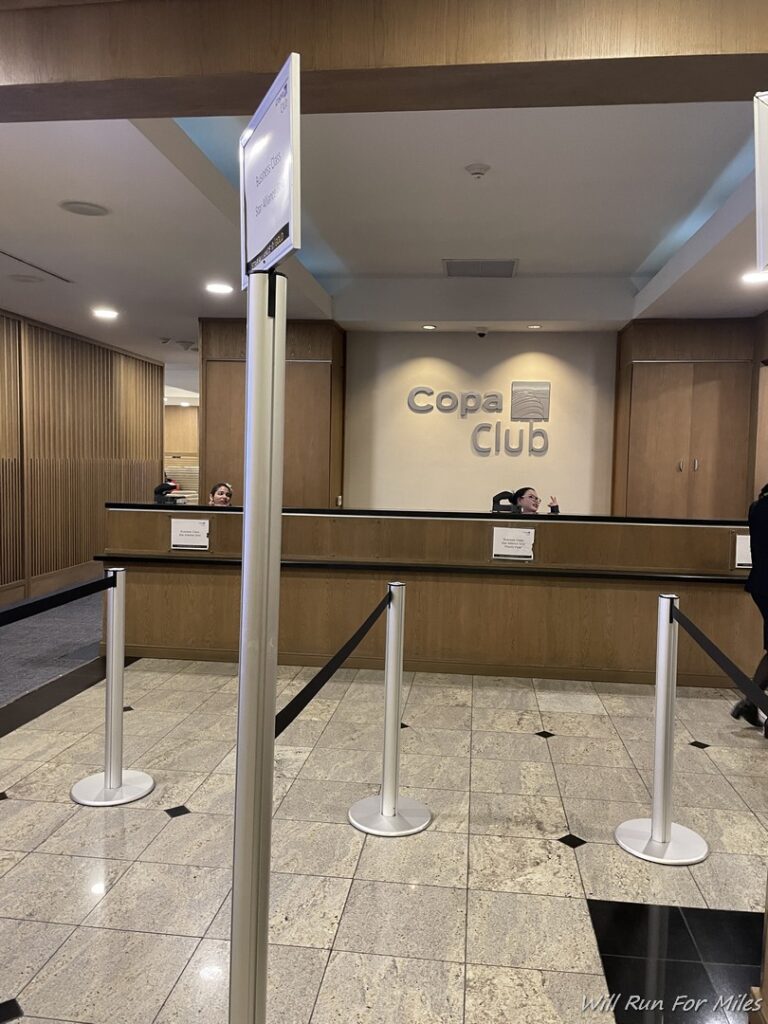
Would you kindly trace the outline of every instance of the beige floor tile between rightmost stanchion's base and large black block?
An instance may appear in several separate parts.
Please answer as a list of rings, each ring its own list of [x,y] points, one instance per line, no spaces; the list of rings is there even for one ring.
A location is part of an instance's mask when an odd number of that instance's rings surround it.
[[[599,843],[580,846],[575,855],[588,899],[705,906],[687,867],[652,864]]]

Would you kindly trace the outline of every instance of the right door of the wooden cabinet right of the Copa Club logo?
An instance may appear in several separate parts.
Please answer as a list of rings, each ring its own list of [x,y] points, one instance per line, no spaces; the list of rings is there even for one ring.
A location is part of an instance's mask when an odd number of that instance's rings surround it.
[[[751,396],[751,364],[694,364],[691,519],[743,519],[746,515]]]

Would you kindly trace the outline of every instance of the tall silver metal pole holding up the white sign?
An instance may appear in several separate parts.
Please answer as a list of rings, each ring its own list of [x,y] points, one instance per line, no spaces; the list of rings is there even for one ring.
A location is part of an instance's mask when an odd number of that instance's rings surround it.
[[[229,1024],[265,1024],[283,510],[286,279],[248,279]]]

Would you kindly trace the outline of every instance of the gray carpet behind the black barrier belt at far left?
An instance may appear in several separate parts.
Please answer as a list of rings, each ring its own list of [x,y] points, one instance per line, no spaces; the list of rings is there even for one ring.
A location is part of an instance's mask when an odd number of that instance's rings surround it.
[[[103,595],[0,627],[0,708],[98,656]]]

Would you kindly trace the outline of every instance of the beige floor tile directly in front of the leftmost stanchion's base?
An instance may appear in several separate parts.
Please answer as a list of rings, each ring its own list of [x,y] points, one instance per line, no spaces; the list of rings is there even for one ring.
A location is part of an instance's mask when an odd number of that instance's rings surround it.
[[[81,807],[42,844],[40,853],[134,860],[168,821],[168,815],[158,810]]]

